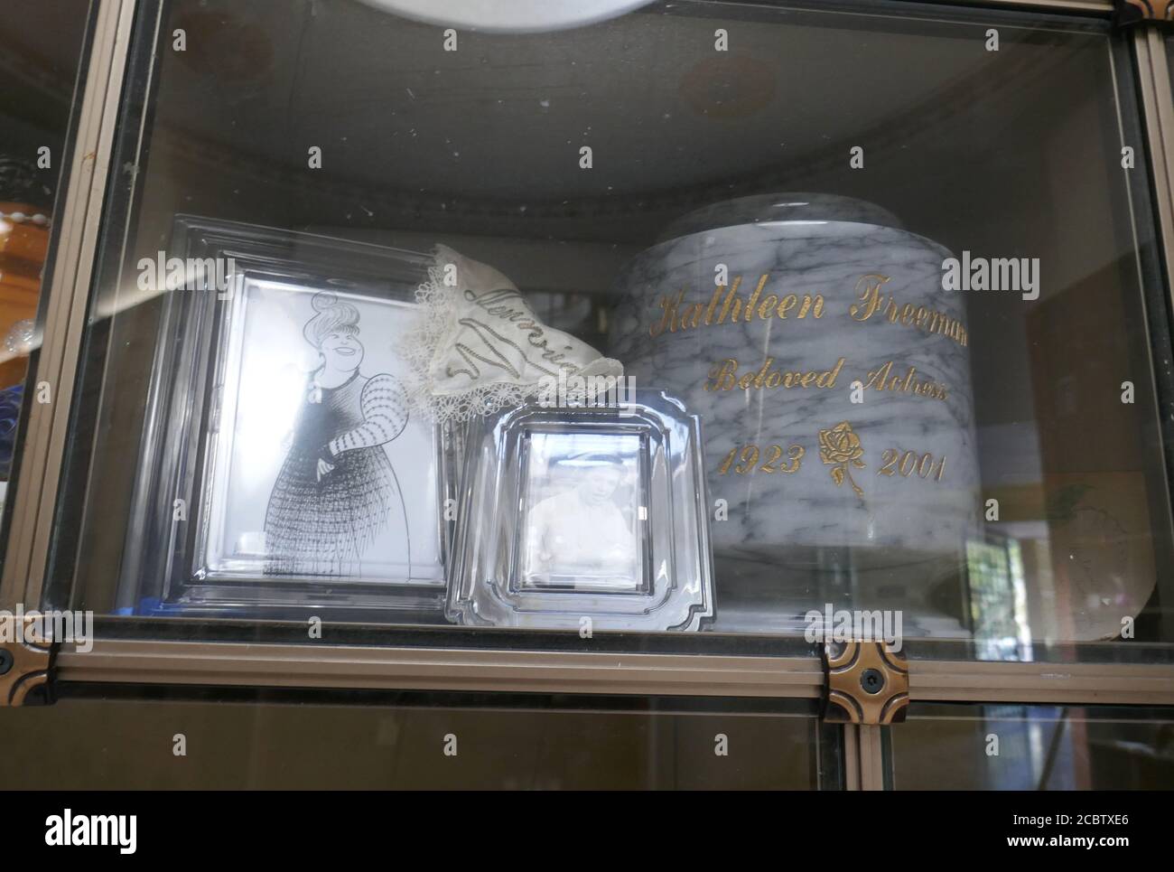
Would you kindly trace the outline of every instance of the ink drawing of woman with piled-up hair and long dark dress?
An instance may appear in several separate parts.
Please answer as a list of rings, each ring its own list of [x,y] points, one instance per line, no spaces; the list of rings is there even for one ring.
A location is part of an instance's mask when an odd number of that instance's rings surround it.
[[[372,542],[389,531],[407,551],[407,515],[383,445],[407,423],[397,378],[360,375],[359,311],[333,294],[313,295],[303,336],[318,350],[292,444],[265,510],[265,571],[358,575]]]

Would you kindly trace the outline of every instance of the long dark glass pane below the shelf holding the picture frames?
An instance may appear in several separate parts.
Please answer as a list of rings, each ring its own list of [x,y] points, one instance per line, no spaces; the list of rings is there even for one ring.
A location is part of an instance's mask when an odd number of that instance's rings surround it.
[[[0,780],[65,790],[839,790],[843,783],[841,731],[821,724],[807,704],[755,712],[738,700],[690,711],[657,699],[68,691],[52,707],[0,718],[7,750]],[[180,735],[183,756],[175,753]]]

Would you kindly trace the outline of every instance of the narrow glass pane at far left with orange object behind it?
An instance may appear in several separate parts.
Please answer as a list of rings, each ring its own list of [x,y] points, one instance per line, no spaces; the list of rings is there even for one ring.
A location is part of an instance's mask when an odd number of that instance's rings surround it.
[[[40,348],[41,280],[88,9],[87,0],[11,0],[0,14],[0,512],[14,495],[25,380]]]

